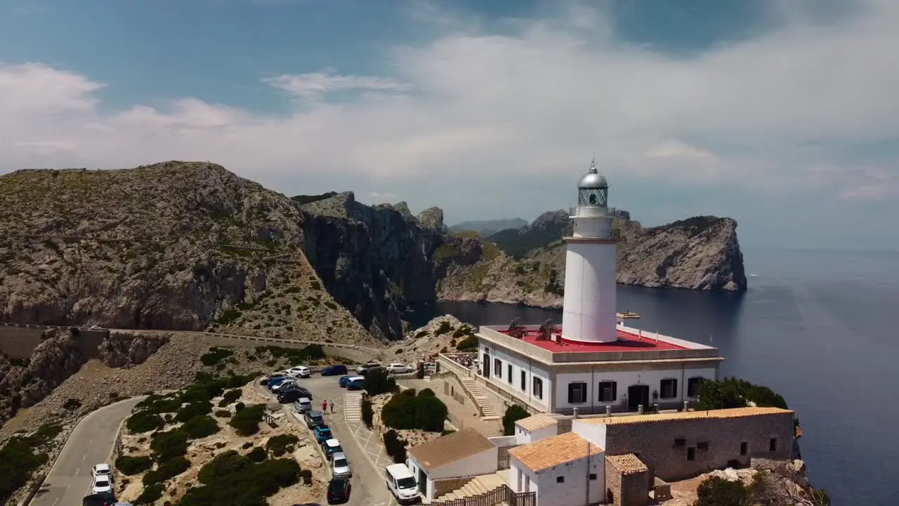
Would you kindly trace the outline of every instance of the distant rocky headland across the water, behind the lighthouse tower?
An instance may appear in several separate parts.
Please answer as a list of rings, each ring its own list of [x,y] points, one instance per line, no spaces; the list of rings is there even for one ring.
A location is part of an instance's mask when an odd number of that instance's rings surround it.
[[[443,300],[521,303],[538,307],[561,307],[565,283],[565,245],[556,240],[525,254],[514,249],[530,248],[555,233],[565,230],[565,213],[545,215],[539,226],[531,226],[513,235],[494,234],[500,244],[481,242],[480,258],[475,250],[447,247],[441,251],[449,258],[446,276],[438,284]],[[700,216],[667,225],[643,228],[629,214],[620,214],[613,222],[619,235],[618,282],[659,288],[683,288],[707,291],[743,291],[746,276],[743,254],[736,237],[736,221],[730,218]],[[518,238],[518,239],[516,239]],[[518,240],[519,242],[515,242]],[[520,255],[503,251],[512,249]]]

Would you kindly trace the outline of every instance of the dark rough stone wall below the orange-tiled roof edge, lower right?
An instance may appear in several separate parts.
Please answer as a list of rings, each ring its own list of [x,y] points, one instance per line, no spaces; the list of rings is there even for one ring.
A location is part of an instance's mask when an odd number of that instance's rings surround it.
[[[776,441],[773,451],[770,450],[772,438]],[[746,444],[746,455],[740,455],[742,443]],[[787,460],[792,447],[791,411],[731,419],[660,420],[606,426],[607,455],[633,453],[649,468],[650,475],[669,482],[737,463],[748,466],[752,457]]]

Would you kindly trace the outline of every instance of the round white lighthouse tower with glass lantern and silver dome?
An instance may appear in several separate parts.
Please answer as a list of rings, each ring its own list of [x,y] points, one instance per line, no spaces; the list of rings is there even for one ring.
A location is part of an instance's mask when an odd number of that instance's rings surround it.
[[[562,338],[577,342],[618,339],[615,279],[618,239],[612,233],[615,208],[608,207],[609,183],[596,170],[577,184],[577,207],[571,210],[574,230],[565,237],[565,307]]]

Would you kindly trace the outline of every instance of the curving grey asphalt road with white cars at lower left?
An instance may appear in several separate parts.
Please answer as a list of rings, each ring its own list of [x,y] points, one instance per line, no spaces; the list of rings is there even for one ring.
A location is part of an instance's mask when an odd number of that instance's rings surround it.
[[[91,467],[109,461],[121,421],[143,399],[135,397],[115,402],[78,422],[31,506],[81,504],[90,493]]]

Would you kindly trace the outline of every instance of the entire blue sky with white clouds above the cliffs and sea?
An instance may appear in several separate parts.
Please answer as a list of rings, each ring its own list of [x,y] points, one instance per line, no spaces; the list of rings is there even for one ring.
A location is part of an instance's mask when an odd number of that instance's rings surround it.
[[[895,0],[3,0],[0,173],[209,160],[446,221],[899,249]],[[890,218],[893,216],[894,218]]]

